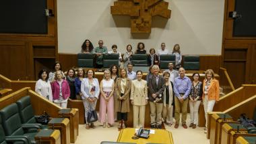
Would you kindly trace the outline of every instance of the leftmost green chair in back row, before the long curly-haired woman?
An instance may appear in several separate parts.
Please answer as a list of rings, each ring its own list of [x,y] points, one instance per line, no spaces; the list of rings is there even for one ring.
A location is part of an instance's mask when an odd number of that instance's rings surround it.
[[[77,54],[78,68],[93,68],[94,67],[94,54]]]

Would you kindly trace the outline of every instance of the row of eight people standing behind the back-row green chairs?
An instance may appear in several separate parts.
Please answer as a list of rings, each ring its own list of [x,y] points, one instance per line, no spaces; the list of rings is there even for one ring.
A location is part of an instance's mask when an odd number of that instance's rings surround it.
[[[117,45],[112,46],[112,50],[108,52],[108,49],[106,46],[103,46],[103,41],[98,41],[98,47],[94,48],[92,42],[90,40],[85,40],[85,42],[82,44],[82,50],[81,53],[84,54],[95,54],[96,55],[96,67],[102,68],[102,58],[103,54],[119,54],[119,65],[123,63],[123,68],[127,67],[127,64],[131,63],[131,56],[133,54],[147,54],[147,51],[145,50],[145,44],[142,42],[139,42],[137,44],[137,50],[133,52],[133,47],[131,44],[128,44],[126,47],[127,52],[125,52],[122,56],[121,52],[117,51]],[[154,48],[150,49],[150,52],[148,54],[148,64],[151,66],[156,64],[159,65],[160,62],[160,55],[162,54],[174,54],[175,59],[175,68],[181,67],[181,50],[179,44],[175,44],[173,47],[172,52],[169,52],[169,50],[166,48],[166,45],[164,43],[161,44],[161,48],[157,51]]]

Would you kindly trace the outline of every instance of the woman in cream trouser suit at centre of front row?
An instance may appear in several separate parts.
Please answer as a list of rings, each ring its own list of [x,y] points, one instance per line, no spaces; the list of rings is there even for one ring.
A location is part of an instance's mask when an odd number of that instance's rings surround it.
[[[145,108],[148,104],[147,81],[142,80],[142,72],[136,72],[137,79],[131,82],[131,104],[133,104],[133,127],[144,127]]]

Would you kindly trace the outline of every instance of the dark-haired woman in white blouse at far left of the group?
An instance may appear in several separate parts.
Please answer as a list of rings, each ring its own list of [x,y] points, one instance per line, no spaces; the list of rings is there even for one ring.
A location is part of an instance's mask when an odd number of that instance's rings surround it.
[[[50,82],[48,81],[49,74],[47,70],[40,70],[38,73],[38,78],[39,80],[36,82],[35,91],[44,98],[47,98],[53,102],[52,88]]]

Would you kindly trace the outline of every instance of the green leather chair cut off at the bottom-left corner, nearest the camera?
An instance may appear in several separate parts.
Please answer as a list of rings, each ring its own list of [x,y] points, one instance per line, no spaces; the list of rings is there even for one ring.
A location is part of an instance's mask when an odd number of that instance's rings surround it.
[[[26,139],[26,137],[16,137],[16,136],[5,137],[5,131],[1,124],[2,124],[2,119],[0,115],[0,144],[7,144],[7,143],[13,143],[13,142],[21,142],[24,144],[29,144],[28,139]]]

